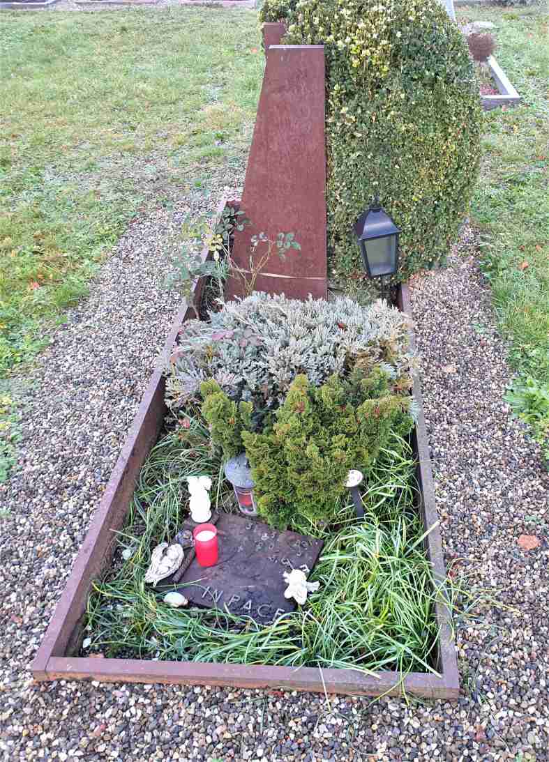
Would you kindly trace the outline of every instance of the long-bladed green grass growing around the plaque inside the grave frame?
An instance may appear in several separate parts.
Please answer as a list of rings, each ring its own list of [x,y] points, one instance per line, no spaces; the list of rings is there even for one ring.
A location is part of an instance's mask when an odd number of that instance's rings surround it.
[[[214,475],[213,506],[226,509],[207,429],[192,417],[186,432],[166,434],[143,467],[114,565],[88,600],[86,655],[435,671],[440,591],[425,555],[415,463],[403,437],[390,437],[361,488],[363,520],[350,497],[330,523],[295,514],[291,529],[325,540],[310,575],[320,588],[303,607],[264,626],[222,610],[172,609],[162,600],[172,586],[143,583],[152,547],[181,523],[187,475]]]

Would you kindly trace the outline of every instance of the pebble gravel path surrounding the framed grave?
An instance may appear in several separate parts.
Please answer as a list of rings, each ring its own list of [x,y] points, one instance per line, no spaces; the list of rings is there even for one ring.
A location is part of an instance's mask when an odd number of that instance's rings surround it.
[[[492,598],[457,621],[457,703],[253,690],[34,685],[33,657],[177,304],[162,241],[179,210],[136,220],[91,297],[40,357],[3,521],[0,753],[4,760],[549,760],[547,475],[509,418],[509,372],[470,232],[448,270],[417,277],[447,562]],[[525,551],[521,534],[541,539]],[[465,580],[467,580],[465,582]]]

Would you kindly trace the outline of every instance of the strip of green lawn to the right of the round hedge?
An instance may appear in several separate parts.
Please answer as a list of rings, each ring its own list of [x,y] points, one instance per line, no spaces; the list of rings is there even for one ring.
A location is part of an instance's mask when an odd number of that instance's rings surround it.
[[[482,174],[472,216],[509,360],[509,401],[549,458],[549,43],[544,8],[460,8],[493,21],[494,55],[522,95],[486,114]],[[529,380],[528,380],[529,379]]]

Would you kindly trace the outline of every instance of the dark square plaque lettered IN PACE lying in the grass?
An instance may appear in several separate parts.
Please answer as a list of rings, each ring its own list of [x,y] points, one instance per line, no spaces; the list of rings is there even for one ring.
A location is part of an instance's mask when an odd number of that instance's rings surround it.
[[[219,561],[204,568],[193,558],[176,582],[185,584],[178,592],[195,606],[229,610],[261,624],[294,611],[295,601],[284,598],[287,584],[283,572],[299,568],[308,576],[323,540],[278,532],[268,524],[233,514],[221,513],[216,526]],[[185,555],[189,553],[192,551],[185,551]]]

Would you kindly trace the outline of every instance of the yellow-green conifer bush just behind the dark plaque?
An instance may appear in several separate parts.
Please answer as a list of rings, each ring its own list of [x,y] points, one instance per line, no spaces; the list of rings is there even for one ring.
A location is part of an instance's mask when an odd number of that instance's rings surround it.
[[[315,387],[301,374],[261,432],[250,431],[251,408],[237,408],[209,382],[202,385],[202,414],[227,456],[245,447],[258,513],[286,529],[296,515],[332,520],[349,470],[368,474],[389,438],[409,433],[411,398],[391,394],[390,380],[380,368],[357,368],[348,379],[333,375]]]

